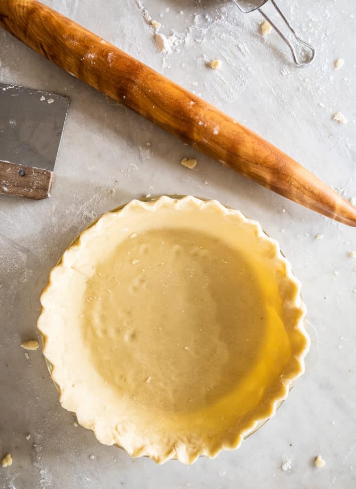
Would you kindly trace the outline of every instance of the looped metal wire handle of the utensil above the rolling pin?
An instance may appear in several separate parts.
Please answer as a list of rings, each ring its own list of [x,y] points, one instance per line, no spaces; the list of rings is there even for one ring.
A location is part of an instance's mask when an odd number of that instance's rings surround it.
[[[286,28],[286,34],[283,34],[277,24],[273,22],[262,10],[262,7],[267,4],[267,2],[270,2],[276,13],[279,15],[282,28]],[[287,44],[290,52],[292,53],[293,61],[297,66],[307,66],[313,61],[315,56],[315,48],[300,38],[274,0],[234,0],[234,3],[244,14],[249,14],[250,12],[257,10]],[[300,56],[298,56],[294,43],[299,44],[309,51],[310,54],[306,59],[302,59]]]

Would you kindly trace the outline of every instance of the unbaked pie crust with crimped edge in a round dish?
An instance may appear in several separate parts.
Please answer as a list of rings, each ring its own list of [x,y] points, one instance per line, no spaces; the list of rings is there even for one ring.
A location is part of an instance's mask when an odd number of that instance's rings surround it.
[[[237,448],[303,373],[300,284],[261,226],[217,201],[133,200],[51,271],[38,320],[64,408],[158,463]]]

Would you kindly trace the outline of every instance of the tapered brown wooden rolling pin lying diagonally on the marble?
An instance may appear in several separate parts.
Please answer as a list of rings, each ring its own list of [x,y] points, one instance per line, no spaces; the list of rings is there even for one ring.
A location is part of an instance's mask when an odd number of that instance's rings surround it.
[[[37,0],[0,0],[0,26],[223,165],[298,204],[356,226],[356,209],[285,153]]]

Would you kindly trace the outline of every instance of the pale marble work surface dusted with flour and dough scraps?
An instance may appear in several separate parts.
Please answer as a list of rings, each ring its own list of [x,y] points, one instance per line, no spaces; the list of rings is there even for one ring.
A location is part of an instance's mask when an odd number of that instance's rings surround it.
[[[261,38],[258,14],[243,16],[231,2],[147,0],[163,33],[188,32],[180,51],[168,55],[157,53],[134,0],[46,3],[233,115],[345,196],[356,196],[356,7],[349,0],[284,2],[318,48],[315,63],[304,69],[290,63],[275,34]],[[205,66],[215,57],[223,61],[218,72]],[[333,71],[338,57],[345,65]],[[0,451],[14,459],[0,468],[1,489],[354,488],[356,260],[348,252],[356,251],[355,231],[221,167],[1,30],[0,80],[72,99],[52,197],[0,196]],[[346,125],[331,119],[337,111]],[[180,165],[184,156],[197,157],[195,170]],[[318,335],[307,376],[275,418],[238,451],[193,466],[156,466],[100,445],[60,407],[42,354],[30,352],[26,360],[20,348],[38,336],[40,291],[71,240],[102,212],[147,193],[217,198],[258,219],[302,281]],[[316,234],[324,238],[315,240]],[[326,460],[321,469],[313,465],[319,453]],[[286,458],[291,468],[283,471]]]

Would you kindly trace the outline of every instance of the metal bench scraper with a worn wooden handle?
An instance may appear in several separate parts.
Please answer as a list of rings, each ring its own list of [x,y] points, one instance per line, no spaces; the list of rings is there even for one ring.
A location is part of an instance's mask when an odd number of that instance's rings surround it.
[[[45,199],[69,99],[0,83],[0,193]]]

